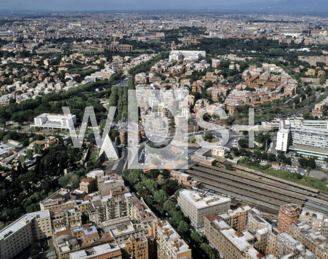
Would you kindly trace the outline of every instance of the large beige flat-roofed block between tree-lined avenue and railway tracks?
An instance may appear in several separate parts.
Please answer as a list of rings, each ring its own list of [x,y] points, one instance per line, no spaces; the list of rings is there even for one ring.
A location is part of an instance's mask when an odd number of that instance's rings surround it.
[[[204,227],[204,217],[209,214],[223,214],[230,209],[230,198],[221,197],[211,192],[198,192],[183,189],[179,191],[178,205],[189,217],[196,230]]]

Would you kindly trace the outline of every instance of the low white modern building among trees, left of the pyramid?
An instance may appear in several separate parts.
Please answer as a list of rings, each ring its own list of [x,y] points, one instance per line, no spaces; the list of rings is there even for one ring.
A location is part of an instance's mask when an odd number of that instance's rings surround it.
[[[31,127],[73,129],[76,124],[76,116],[72,114],[43,113],[34,118]]]

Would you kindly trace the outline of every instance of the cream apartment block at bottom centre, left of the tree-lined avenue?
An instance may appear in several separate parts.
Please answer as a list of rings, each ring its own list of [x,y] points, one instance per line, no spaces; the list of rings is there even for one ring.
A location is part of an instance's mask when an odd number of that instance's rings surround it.
[[[191,258],[191,249],[167,221],[154,220],[148,229],[156,237],[157,259]]]

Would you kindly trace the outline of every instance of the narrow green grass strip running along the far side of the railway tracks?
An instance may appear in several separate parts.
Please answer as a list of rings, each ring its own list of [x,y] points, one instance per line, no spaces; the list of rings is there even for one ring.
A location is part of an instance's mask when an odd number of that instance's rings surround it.
[[[312,187],[312,188],[315,188],[318,190],[328,191],[328,187],[326,186],[326,184],[328,184],[328,182],[322,181],[317,178],[303,176],[302,179],[297,179],[297,174],[294,174],[293,172],[276,170],[273,168],[263,170],[263,169],[259,169],[259,168],[255,167],[255,166],[251,166],[251,165],[247,165],[247,164],[243,164],[243,163],[239,163],[238,165],[248,167],[250,169],[254,169],[256,171],[263,172],[263,174],[275,176],[275,177],[278,177],[278,178],[281,178],[281,179],[284,179],[287,181],[291,181],[294,183],[298,183],[298,184],[301,184],[304,186],[309,186],[309,187]]]

